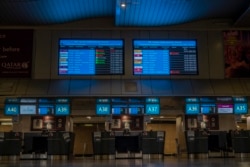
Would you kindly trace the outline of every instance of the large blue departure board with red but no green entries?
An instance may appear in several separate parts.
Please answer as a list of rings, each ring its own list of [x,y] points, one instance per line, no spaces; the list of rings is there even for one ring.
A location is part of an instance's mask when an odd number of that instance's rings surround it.
[[[196,40],[134,40],[134,75],[198,75]]]

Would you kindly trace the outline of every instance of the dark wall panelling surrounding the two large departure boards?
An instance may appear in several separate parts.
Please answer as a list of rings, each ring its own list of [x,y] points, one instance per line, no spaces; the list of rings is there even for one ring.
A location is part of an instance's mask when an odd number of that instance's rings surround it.
[[[36,30],[34,78],[39,79],[224,79],[223,48],[220,31],[168,31],[168,30]],[[122,76],[58,76],[58,39],[124,39],[125,74]],[[133,76],[133,39],[197,39],[199,75]]]

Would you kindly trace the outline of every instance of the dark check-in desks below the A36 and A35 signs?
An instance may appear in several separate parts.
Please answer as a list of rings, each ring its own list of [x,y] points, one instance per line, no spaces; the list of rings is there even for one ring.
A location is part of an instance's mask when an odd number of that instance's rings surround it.
[[[189,157],[232,157],[250,153],[250,131],[186,131]],[[244,155],[244,156],[245,156]]]

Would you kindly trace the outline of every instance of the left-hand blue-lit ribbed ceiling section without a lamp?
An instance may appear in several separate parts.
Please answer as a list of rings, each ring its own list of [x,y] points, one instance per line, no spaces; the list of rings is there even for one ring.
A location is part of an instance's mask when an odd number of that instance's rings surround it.
[[[114,0],[1,0],[0,24],[61,24],[111,16]]]

